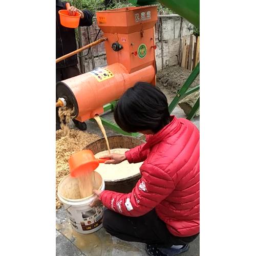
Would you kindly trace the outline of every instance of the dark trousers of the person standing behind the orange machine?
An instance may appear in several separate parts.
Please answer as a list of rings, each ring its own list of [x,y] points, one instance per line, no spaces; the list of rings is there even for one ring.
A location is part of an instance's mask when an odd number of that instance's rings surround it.
[[[63,69],[56,69],[56,82],[74,77],[74,76],[78,76],[80,75],[80,71],[77,67],[77,65],[75,66],[71,66],[68,68],[63,68]],[[57,95],[56,95],[56,101],[57,101]],[[76,124],[76,122],[79,122],[75,119],[73,119],[74,123]],[[58,116],[58,108],[56,108],[56,126],[59,125],[60,121],[59,121],[59,116]]]

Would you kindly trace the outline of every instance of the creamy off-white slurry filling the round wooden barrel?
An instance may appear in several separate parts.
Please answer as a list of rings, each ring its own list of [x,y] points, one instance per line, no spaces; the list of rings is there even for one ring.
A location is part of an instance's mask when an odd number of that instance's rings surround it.
[[[110,150],[111,154],[124,154],[129,148],[114,148]],[[108,155],[108,151],[102,151],[95,155],[96,158],[101,158]],[[96,169],[103,180],[120,180],[134,176],[140,172],[141,163],[129,163],[127,160],[119,164],[102,164],[100,163]]]

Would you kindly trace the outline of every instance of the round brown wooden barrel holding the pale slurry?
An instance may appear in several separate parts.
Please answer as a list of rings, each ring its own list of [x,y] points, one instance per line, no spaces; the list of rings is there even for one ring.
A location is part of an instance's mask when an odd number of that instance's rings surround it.
[[[123,135],[115,135],[108,137],[110,148],[133,148],[142,143],[143,140],[131,137],[131,136],[123,136]],[[101,151],[108,150],[106,147],[106,141],[104,138],[101,138],[86,147],[85,150],[91,150],[93,154],[97,154]],[[97,172],[97,170],[96,170]],[[115,181],[108,181],[105,180],[105,189],[112,190],[120,193],[129,193],[134,188],[137,181],[140,179],[140,173],[131,177],[127,177],[125,179],[115,180]]]

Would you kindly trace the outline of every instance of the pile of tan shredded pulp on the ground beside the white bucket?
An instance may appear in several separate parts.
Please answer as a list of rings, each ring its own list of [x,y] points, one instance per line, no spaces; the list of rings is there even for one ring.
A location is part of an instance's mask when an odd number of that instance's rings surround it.
[[[62,205],[58,200],[57,188],[60,180],[69,174],[68,159],[70,155],[82,150],[85,146],[99,138],[96,134],[74,129],[56,131],[56,209]]]

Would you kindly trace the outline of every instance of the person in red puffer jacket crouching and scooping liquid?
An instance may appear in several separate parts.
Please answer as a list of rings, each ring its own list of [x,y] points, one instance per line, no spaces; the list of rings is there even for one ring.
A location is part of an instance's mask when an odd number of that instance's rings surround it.
[[[146,135],[146,142],[106,164],[143,162],[141,178],[129,194],[94,190],[94,206],[108,209],[103,227],[125,241],[146,243],[149,255],[188,250],[199,234],[199,130],[187,119],[170,116],[165,95],[146,82],[127,90],[114,117],[126,132]]]

